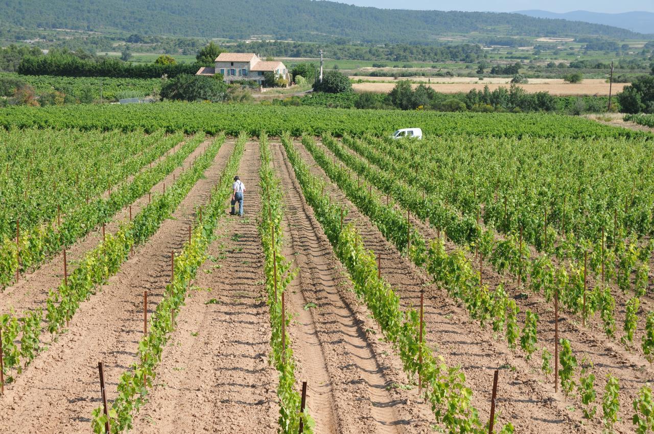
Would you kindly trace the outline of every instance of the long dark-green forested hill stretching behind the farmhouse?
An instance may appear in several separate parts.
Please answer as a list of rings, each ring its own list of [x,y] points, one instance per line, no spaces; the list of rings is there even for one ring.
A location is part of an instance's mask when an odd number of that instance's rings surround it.
[[[145,35],[362,42],[428,42],[448,33],[642,37],[608,25],[491,12],[356,7],[311,0],[3,0],[2,22],[35,27],[115,30]]]

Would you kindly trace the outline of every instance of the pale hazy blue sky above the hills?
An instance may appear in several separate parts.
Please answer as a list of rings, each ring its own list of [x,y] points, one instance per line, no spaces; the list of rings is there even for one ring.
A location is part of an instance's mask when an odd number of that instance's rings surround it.
[[[629,12],[645,10],[654,12],[654,0],[458,0],[439,2],[430,0],[336,0],[358,6],[402,9],[435,10],[484,10],[492,12],[513,12],[514,10],[541,9],[550,12],[570,12],[572,10],[590,10],[592,12]]]

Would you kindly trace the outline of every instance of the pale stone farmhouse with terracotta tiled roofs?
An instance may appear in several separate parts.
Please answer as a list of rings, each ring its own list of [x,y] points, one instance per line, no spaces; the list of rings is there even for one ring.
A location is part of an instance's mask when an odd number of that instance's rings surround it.
[[[254,53],[220,53],[215,67],[202,67],[196,75],[222,74],[226,82],[252,80],[263,84],[264,73],[274,73],[276,78],[289,80],[288,70],[281,61],[264,61]]]

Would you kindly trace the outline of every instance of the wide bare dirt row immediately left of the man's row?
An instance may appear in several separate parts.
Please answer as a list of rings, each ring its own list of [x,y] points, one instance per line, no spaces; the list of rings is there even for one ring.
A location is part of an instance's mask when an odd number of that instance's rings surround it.
[[[203,148],[202,148],[203,149]],[[97,362],[105,363],[107,394],[137,361],[143,337],[143,291],[154,311],[170,278],[170,252],[188,237],[194,207],[209,192],[226,163],[233,140],[222,145],[215,161],[135,256],[123,264],[101,291],[80,305],[69,331],[41,353],[0,397],[0,431],[18,433],[88,433],[90,415],[99,405]]]

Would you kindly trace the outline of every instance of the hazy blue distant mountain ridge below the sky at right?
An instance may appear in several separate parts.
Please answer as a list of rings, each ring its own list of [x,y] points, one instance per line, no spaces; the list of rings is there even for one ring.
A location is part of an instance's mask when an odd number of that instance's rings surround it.
[[[534,18],[554,18],[561,20],[583,21],[593,24],[611,25],[638,33],[654,33],[654,12],[622,12],[620,14],[604,14],[602,12],[589,12],[587,10],[574,10],[564,14],[547,12],[547,10],[517,10],[516,14],[523,14]]]

